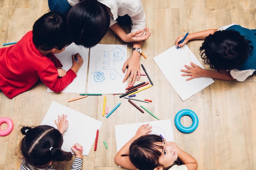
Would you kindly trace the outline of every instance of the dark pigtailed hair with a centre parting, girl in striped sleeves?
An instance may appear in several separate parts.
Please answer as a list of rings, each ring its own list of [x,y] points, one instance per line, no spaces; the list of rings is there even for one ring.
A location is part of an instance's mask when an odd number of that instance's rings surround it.
[[[28,131],[26,132],[26,130]],[[69,161],[72,158],[71,152],[61,150],[63,137],[60,131],[54,127],[47,125],[34,128],[23,126],[20,131],[26,135],[20,146],[26,164],[38,167],[49,161]]]

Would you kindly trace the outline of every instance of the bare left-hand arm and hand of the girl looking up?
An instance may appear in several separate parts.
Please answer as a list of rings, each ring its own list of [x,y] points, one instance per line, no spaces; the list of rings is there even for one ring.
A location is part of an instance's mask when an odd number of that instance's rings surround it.
[[[131,163],[130,159],[128,156],[121,156],[121,155],[129,155],[129,148],[130,145],[132,144],[132,142],[135,139],[138,139],[139,137],[141,137],[142,135],[148,135],[148,133],[151,132],[151,128],[152,126],[148,126],[149,124],[143,124],[139,127],[139,129],[137,130],[136,134],[134,137],[132,137],[132,139],[130,139],[117,153],[117,155],[115,156],[115,163],[117,163],[117,165],[129,169],[129,170],[137,170],[137,168]]]

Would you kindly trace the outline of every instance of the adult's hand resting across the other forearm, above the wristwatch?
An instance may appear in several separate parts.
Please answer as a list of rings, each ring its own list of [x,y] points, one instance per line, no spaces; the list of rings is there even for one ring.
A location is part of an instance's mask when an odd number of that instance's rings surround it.
[[[139,42],[148,39],[150,35],[151,33],[149,32],[148,27],[145,27],[143,30],[138,30],[127,34],[126,36],[122,37],[122,40],[125,42]]]

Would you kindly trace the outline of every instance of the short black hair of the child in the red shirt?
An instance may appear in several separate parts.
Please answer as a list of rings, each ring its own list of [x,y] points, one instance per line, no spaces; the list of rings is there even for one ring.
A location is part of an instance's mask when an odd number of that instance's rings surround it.
[[[33,42],[37,48],[61,50],[72,43],[64,15],[51,11],[40,17],[33,26]]]

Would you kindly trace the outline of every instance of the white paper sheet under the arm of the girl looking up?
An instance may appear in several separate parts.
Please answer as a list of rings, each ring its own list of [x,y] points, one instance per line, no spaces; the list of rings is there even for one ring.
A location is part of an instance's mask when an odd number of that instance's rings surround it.
[[[132,137],[135,136],[135,133],[137,132],[139,126],[141,126],[142,124],[149,124],[149,126],[152,126],[152,132],[150,134],[161,134],[164,138],[166,138],[166,141],[174,142],[171,119],[115,125],[117,152],[124,146],[124,144],[126,144]]]

